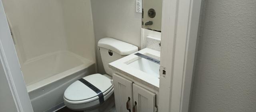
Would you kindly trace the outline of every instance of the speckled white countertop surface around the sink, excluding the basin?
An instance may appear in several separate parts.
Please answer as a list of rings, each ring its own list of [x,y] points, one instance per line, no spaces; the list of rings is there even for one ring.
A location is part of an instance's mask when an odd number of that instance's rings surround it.
[[[148,55],[150,57],[160,60],[160,52],[153,50],[153,49],[145,48],[136,53]],[[136,68],[128,65],[128,63],[136,61],[137,59],[140,58],[139,56],[134,55],[134,54],[135,53],[128,55],[126,57],[123,57],[121,59],[118,59],[112,63],[109,63],[108,65],[114,71],[122,73],[123,75],[126,75],[127,77],[130,77],[131,79],[134,79],[135,81],[138,81],[139,83],[145,84],[146,86],[148,86],[150,88],[159,90],[158,77],[155,77],[154,75],[150,75],[148,73],[145,73],[143,71],[140,71],[139,69],[136,69]]]

